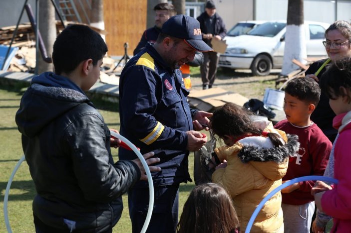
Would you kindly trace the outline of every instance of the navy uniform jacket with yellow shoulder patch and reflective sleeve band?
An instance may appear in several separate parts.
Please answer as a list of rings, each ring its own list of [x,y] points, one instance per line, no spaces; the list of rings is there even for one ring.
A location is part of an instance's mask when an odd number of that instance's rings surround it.
[[[193,129],[191,110],[179,70],[169,68],[157,51],[147,45],[124,67],[119,80],[120,134],[140,148],[155,152],[161,171],[152,174],[155,185],[190,181],[188,137]],[[135,159],[119,148],[119,159]],[[140,181],[138,186],[147,185]]]

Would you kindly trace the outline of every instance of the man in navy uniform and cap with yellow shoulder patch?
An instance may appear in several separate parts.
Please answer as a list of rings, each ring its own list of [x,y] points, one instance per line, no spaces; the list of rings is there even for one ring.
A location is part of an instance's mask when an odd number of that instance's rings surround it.
[[[179,67],[194,59],[195,51],[212,51],[203,40],[199,22],[175,15],[162,26],[154,45],[129,60],[119,81],[120,133],[140,148],[161,159],[160,172],[152,173],[155,203],[147,232],[172,233],[178,222],[178,188],[191,181],[189,151],[207,141],[195,130],[209,124],[211,113],[192,110],[189,92]],[[208,130],[208,128],[206,127]],[[134,159],[132,151],[119,148],[119,159]],[[133,233],[140,233],[149,204],[147,182],[137,182],[128,192]]]

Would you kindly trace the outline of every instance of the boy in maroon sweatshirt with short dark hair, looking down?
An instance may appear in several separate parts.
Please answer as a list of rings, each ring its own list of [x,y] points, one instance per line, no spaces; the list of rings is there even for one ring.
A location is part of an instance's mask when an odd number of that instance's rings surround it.
[[[283,183],[291,179],[323,175],[332,143],[322,130],[311,121],[310,116],[320,100],[321,89],[317,82],[307,78],[296,78],[285,88],[284,112],[287,117],[274,127],[299,136],[300,149],[291,157]],[[294,183],[282,190],[284,232],[310,232],[315,211],[311,189],[315,181]]]

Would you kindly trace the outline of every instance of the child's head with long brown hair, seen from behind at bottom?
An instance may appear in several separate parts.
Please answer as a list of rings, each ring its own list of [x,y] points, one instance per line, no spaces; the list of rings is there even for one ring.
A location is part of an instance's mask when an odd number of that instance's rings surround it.
[[[226,190],[214,183],[196,186],[184,204],[177,233],[239,233],[239,220]]]

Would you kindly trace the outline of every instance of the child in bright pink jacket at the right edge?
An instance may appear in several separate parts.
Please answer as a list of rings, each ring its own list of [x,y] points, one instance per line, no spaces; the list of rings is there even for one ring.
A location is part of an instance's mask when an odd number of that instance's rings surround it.
[[[333,126],[338,139],[333,144],[334,177],[339,180],[331,186],[318,181],[312,189],[317,208],[333,217],[333,232],[350,232],[351,229],[351,58],[337,61],[322,76],[320,87],[329,97],[336,114]]]

